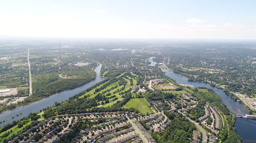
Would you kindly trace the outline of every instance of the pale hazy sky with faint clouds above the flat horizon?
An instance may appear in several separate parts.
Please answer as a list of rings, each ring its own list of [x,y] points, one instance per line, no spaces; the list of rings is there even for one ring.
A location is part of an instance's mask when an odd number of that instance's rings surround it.
[[[256,1],[0,0],[0,36],[256,39]]]

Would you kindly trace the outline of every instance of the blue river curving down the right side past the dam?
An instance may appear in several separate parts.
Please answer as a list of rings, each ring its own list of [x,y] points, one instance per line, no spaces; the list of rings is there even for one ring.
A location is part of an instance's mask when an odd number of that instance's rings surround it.
[[[148,59],[148,61],[151,62],[150,65],[156,65],[157,63],[153,61],[154,57],[151,57]],[[154,64],[152,64],[154,62]],[[223,90],[218,89],[216,87],[212,87],[208,83],[204,82],[195,82],[195,81],[189,81],[187,77],[181,76],[177,73],[174,73],[172,71],[165,72],[165,75],[168,77],[174,79],[179,84],[189,84],[193,85],[194,88],[197,87],[206,87],[209,89],[212,89],[215,91],[216,94],[218,94],[221,97],[221,101],[227,105],[228,109],[234,113],[234,115],[242,114],[248,114],[247,109],[245,106],[240,104],[239,102],[233,100],[230,96],[228,96]],[[251,119],[245,119],[245,118],[237,118],[236,120],[236,128],[237,128],[237,134],[240,135],[243,139],[244,143],[249,142],[256,142],[256,120]]]

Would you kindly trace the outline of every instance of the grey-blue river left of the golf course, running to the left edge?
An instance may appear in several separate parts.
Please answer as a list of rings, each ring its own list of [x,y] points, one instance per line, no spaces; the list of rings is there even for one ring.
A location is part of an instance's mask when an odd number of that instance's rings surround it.
[[[48,106],[53,106],[54,102],[59,102],[61,103],[62,101],[66,101],[70,97],[78,94],[79,92],[82,92],[90,87],[92,85],[102,81],[104,78],[100,77],[100,69],[101,69],[101,64],[99,64],[98,67],[95,68],[96,72],[96,78],[86,84],[83,84],[82,86],[73,89],[73,90],[68,90],[68,91],[63,91],[57,94],[54,94],[48,98],[44,98],[42,100],[39,100],[37,102],[33,102],[31,104],[25,105],[25,106],[18,106],[13,110],[6,110],[0,114],[0,121],[5,121],[2,124],[0,124],[0,127],[2,127],[6,123],[11,123],[13,121],[17,121],[22,119],[23,117],[27,117],[29,113],[31,112],[39,112],[42,108],[46,108]],[[22,113],[22,115],[18,115],[19,113]],[[15,117],[12,119],[12,117]]]

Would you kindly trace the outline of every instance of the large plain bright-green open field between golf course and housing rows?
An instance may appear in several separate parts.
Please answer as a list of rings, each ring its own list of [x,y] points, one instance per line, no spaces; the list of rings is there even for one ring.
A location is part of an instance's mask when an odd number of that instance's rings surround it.
[[[126,108],[135,108],[139,110],[141,113],[151,113],[152,109],[148,107],[148,102],[145,98],[134,98],[127,102],[123,107]]]

